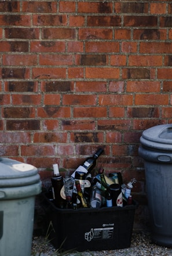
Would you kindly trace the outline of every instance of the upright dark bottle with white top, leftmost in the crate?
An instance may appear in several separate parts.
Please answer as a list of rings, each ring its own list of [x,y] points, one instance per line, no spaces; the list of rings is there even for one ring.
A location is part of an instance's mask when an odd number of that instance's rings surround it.
[[[64,208],[65,200],[60,195],[61,188],[63,187],[63,177],[59,173],[57,164],[53,165],[53,171],[54,176],[52,177],[51,182],[54,204],[58,208]]]

